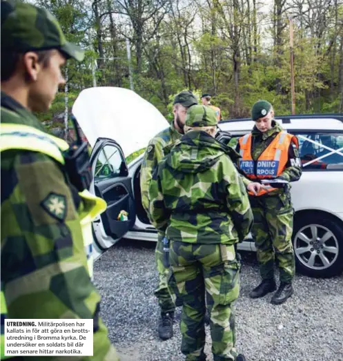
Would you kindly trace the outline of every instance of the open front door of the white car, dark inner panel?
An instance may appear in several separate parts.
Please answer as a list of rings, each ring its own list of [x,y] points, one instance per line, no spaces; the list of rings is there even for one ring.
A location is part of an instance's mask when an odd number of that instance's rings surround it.
[[[106,211],[93,222],[95,242],[104,250],[135,224],[133,182],[128,175],[123,151],[112,139],[97,139],[90,163],[94,176],[90,191],[107,203]]]

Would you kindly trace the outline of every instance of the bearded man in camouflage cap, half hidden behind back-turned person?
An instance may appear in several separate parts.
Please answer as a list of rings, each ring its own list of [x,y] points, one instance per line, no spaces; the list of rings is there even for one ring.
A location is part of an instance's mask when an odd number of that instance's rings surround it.
[[[186,119],[186,111],[190,106],[197,104],[197,99],[190,91],[180,92],[173,101],[174,121],[170,127],[161,131],[150,140],[146,153],[144,155],[143,164],[141,166],[141,202],[149,215],[149,195],[153,171],[157,167],[159,161],[164,157],[165,149],[170,147],[177,139],[182,137],[184,133],[184,121]],[[173,302],[167,285],[168,269],[164,266],[163,244],[161,240],[164,238],[164,232],[159,231],[157,246],[155,251],[155,262],[159,273],[159,284],[155,290],[155,295],[161,309],[161,319],[159,321],[159,337],[162,340],[168,340],[173,337],[173,318],[175,312],[175,303]]]

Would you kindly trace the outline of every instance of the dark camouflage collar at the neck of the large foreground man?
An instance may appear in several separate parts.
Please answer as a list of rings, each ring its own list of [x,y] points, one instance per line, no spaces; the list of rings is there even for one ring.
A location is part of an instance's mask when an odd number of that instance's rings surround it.
[[[46,132],[44,127],[41,125],[37,117],[33,115],[30,110],[24,108],[18,101],[7,95],[6,92],[1,91],[1,108],[12,110],[12,112],[19,115],[19,117],[12,117],[11,123],[14,124],[25,124],[26,126],[32,126],[38,130]],[[3,118],[1,117],[1,122]]]

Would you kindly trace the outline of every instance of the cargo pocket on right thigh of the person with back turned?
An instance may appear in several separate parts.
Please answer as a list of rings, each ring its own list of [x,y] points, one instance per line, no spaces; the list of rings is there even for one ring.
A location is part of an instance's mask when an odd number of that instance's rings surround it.
[[[219,289],[219,304],[231,304],[239,296],[239,269],[237,260],[224,262],[222,281]]]

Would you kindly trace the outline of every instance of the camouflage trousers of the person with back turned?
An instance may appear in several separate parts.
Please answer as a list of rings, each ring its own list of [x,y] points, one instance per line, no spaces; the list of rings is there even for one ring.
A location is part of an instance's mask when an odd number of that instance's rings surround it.
[[[183,302],[181,351],[186,360],[206,360],[206,304],[214,360],[235,360],[233,302],[239,295],[239,262],[234,247],[171,241],[170,266],[170,289]]]

